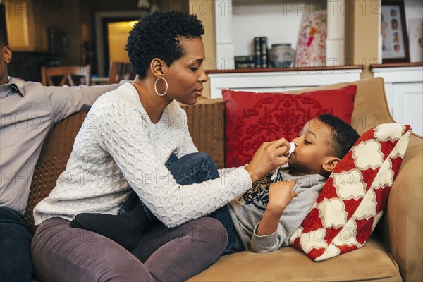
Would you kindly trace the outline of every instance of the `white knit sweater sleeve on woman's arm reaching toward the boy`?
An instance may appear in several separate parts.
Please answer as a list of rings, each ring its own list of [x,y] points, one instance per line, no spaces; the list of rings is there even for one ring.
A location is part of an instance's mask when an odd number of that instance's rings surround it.
[[[251,188],[244,168],[237,168],[226,178],[179,185],[157,157],[148,125],[137,109],[122,101],[116,104],[99,110],[99,144],[111,154],[142,202],[166,226],[176,227],[209,214]]]

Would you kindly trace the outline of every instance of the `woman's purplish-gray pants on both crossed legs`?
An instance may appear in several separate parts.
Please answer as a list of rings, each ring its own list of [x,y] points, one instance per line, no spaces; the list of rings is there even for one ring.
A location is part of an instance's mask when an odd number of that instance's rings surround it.
[[[40,281],[185,281],[215,262],[227,243],[221,223],[205,217],[176,228],[152,226],[131,254],[109,238],[53,218],[37,228],[32,261]]]

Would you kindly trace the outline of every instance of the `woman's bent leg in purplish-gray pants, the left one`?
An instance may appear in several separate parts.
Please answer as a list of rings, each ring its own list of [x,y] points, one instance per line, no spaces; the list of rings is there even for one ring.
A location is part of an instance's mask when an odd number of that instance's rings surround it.
[[[152,281],[148,269],[123,247],[91,231],[48,219],[32,240],[32,261],[42,281]]]

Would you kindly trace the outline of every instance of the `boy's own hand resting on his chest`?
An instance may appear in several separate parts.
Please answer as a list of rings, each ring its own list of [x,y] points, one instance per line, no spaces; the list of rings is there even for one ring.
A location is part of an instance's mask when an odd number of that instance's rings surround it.
[[[269,204],[266,209],[282,214],[289,202],[298,196],[298,192],[293,191],[295,183],[297,183],[295,180],[272,183],[269,186]]]

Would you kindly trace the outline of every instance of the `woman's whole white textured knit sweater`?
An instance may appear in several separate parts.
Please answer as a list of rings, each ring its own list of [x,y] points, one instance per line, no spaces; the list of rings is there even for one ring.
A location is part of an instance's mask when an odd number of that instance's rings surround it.
[[[171,153],[197,152],[187,116],[171,102],[153,124],[129,83],[93,104],[75,138],[66,171],[34,209],[35,225],[82,212],[117,214],[131,188],[168,227],[213,212],[251,188],[244,168],[219,170],[220,178],[178,185],[164,165]]]

